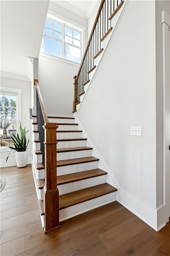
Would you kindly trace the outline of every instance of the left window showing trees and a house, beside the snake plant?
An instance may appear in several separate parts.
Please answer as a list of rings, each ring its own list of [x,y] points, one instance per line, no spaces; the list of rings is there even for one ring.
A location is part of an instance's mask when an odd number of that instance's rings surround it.
[[[11,135],[17,132],[16,93],[0,93],[0,146],[14,145]]]

